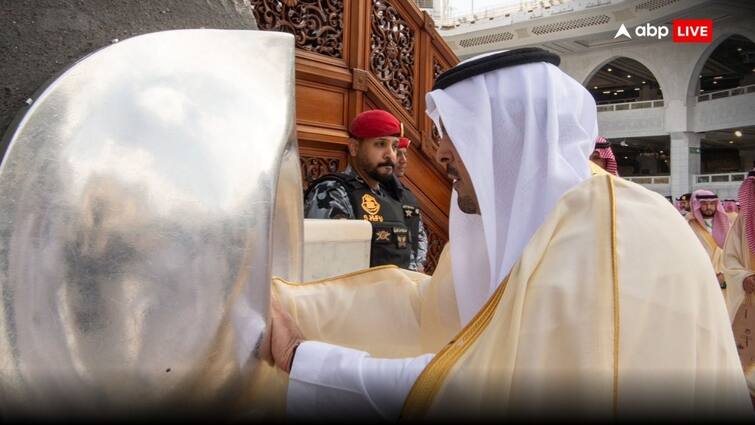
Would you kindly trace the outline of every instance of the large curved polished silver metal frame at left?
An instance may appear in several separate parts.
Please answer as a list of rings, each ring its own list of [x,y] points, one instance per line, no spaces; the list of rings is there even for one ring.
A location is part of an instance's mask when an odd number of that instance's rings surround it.
[[[243,410],[301,277],[294,40],[134,37],[65,71],[0,166],[5,411]]]

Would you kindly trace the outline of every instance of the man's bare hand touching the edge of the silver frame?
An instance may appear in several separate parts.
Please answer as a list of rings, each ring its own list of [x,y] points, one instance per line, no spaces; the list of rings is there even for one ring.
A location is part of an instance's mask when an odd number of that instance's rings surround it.
[[[273,297],[270,305],[270,328],[260,347],[260,357],[278,366],[286,373],[291,372],[296,347],[304,341],[294,319]]]

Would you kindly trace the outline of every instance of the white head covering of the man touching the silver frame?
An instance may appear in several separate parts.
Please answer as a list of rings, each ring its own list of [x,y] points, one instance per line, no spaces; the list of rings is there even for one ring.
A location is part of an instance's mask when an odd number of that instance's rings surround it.
[[[478,59],[473,58],[472,60]],[[595,101],[556,66],[529,63],[427,94],[477,193],[481,215],[451,199],[451,264],[467,323],[495,292],[566,191],[590,177]],[[484,245],[482,244],[484,241]]]

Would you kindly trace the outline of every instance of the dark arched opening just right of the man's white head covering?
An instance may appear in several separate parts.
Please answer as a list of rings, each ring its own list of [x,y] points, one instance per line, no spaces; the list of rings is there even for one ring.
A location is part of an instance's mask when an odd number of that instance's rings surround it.
[[[602,65],[585,84],[598,105],[662,100],[658,80],[640,62],[620,57]]]

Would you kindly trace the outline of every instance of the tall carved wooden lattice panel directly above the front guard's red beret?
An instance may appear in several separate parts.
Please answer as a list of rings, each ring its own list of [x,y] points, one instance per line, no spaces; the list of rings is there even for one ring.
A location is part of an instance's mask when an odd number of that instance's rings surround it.
[[[370,67],[407,111],[414,109],[415,36],[388,0],[372,0]]]

